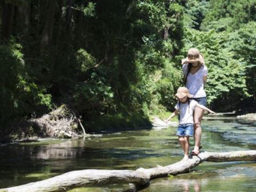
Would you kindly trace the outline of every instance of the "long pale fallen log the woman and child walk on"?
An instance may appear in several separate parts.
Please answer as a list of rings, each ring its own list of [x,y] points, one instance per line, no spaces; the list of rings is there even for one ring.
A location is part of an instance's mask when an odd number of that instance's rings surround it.
[[[188,173],[193,167],[198,166],[203,161],[256,161],[256,150],[231,151],[225,153],[203,152],[198,156],[190,157],[188,160],[181,160],[172,165],[164,167],[158,166],[151,169],[139,168],[135,171],[96,169],[70,171],[43,181],[0,189],[0,192],[66,191],[75,187],[97,186],[111,183],[133,183],[135,188],[138,187],[137,189],[139,189],[139,187],[149,185],[150,179]]]

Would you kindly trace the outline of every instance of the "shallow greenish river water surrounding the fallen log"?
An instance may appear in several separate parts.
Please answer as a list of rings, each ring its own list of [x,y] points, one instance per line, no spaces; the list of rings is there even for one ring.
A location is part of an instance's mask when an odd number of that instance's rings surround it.
[[[255,122],[203,120],[206,151],[256,149]],[[0,188],[40,181],[72,170],[170,165],[182,159],[176,127],[124,131],[90,139],[45,140],[0,146]],[[191,139],[193,145],[193,139]],[[125,191],[129,185],[70,191]],[[151,181],[142,191],[256,191],[256,162],[203,162],[191,173]]]

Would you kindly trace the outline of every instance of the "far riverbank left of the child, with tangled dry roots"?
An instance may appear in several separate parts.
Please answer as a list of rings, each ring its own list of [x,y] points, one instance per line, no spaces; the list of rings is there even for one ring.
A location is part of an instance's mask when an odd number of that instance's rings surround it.
[[[61,116],[61,118],[57,116]],[[155,116],[146,117],[143,114],[104,115],[99,117],[97,121],[90,122],[82,119],[79,119],[81,122],[78,122],[74,115],[72,118],[63,118],[64,116],[69,115],[63,115],[59,110],[57,115],[55,110],[38,119],[14,123],[10,126],[9,131],[1,134],[0,143],[34,142],[43,138],[85,137],[83,129],[88,134],[87,136],[90,136],[91,134],[116,133],[118,131],[151,129],[154,126],[171,125]]]

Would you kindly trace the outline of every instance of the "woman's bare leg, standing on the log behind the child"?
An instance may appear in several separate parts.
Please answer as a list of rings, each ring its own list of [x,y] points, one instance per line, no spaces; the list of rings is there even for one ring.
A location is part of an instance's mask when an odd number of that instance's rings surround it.
[[[194,133],[194,139],[195,139],[195,146],[194,146],[194,150],[195,153],[199,153],[199,146],[201,144],[200,140],[201,140],[201,135],[202,135],[202,129],[201,129],[201,120],[203,117],[203,110],[196,107],[195,111],[194,111],[194,129],[195,129],[195,133]]]

